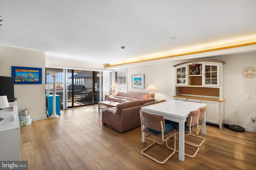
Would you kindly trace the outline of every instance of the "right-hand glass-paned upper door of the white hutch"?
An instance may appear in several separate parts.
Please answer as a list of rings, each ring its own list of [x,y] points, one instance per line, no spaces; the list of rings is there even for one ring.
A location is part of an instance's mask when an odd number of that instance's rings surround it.
[[[204,67],[204,84],[205,85],[219,85],[218,84],[218,65],[205,65]]]

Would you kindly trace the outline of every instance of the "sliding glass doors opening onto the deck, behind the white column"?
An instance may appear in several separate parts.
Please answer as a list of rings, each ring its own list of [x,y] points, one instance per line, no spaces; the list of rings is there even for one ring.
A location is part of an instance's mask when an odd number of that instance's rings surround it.
[[[46,84],[51,86],[50,94],[53,90],[50,71],[59,72],[55,86],[56,94],[60,95],[61,109],[97,104],[101,100],[102,72],[46,68]]]

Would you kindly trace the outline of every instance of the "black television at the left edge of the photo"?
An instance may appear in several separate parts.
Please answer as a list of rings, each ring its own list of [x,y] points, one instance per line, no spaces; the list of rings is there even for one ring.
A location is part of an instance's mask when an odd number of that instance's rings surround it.
[[[0,76],[0,96],[7,96],[8,102],[14,101],[14,78]]]

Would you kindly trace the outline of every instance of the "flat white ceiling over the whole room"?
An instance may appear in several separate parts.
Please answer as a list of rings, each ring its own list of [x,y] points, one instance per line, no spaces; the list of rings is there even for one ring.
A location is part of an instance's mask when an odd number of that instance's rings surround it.
[[[99,64],[256,38],[256,0],[0,0],[0,16],[0,45]]]

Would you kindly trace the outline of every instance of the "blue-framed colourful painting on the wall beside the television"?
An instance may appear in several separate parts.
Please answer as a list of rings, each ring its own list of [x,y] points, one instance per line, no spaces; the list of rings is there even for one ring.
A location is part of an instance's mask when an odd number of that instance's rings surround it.
[[[12,66],[14,84],[42,84],[42,68]]]

